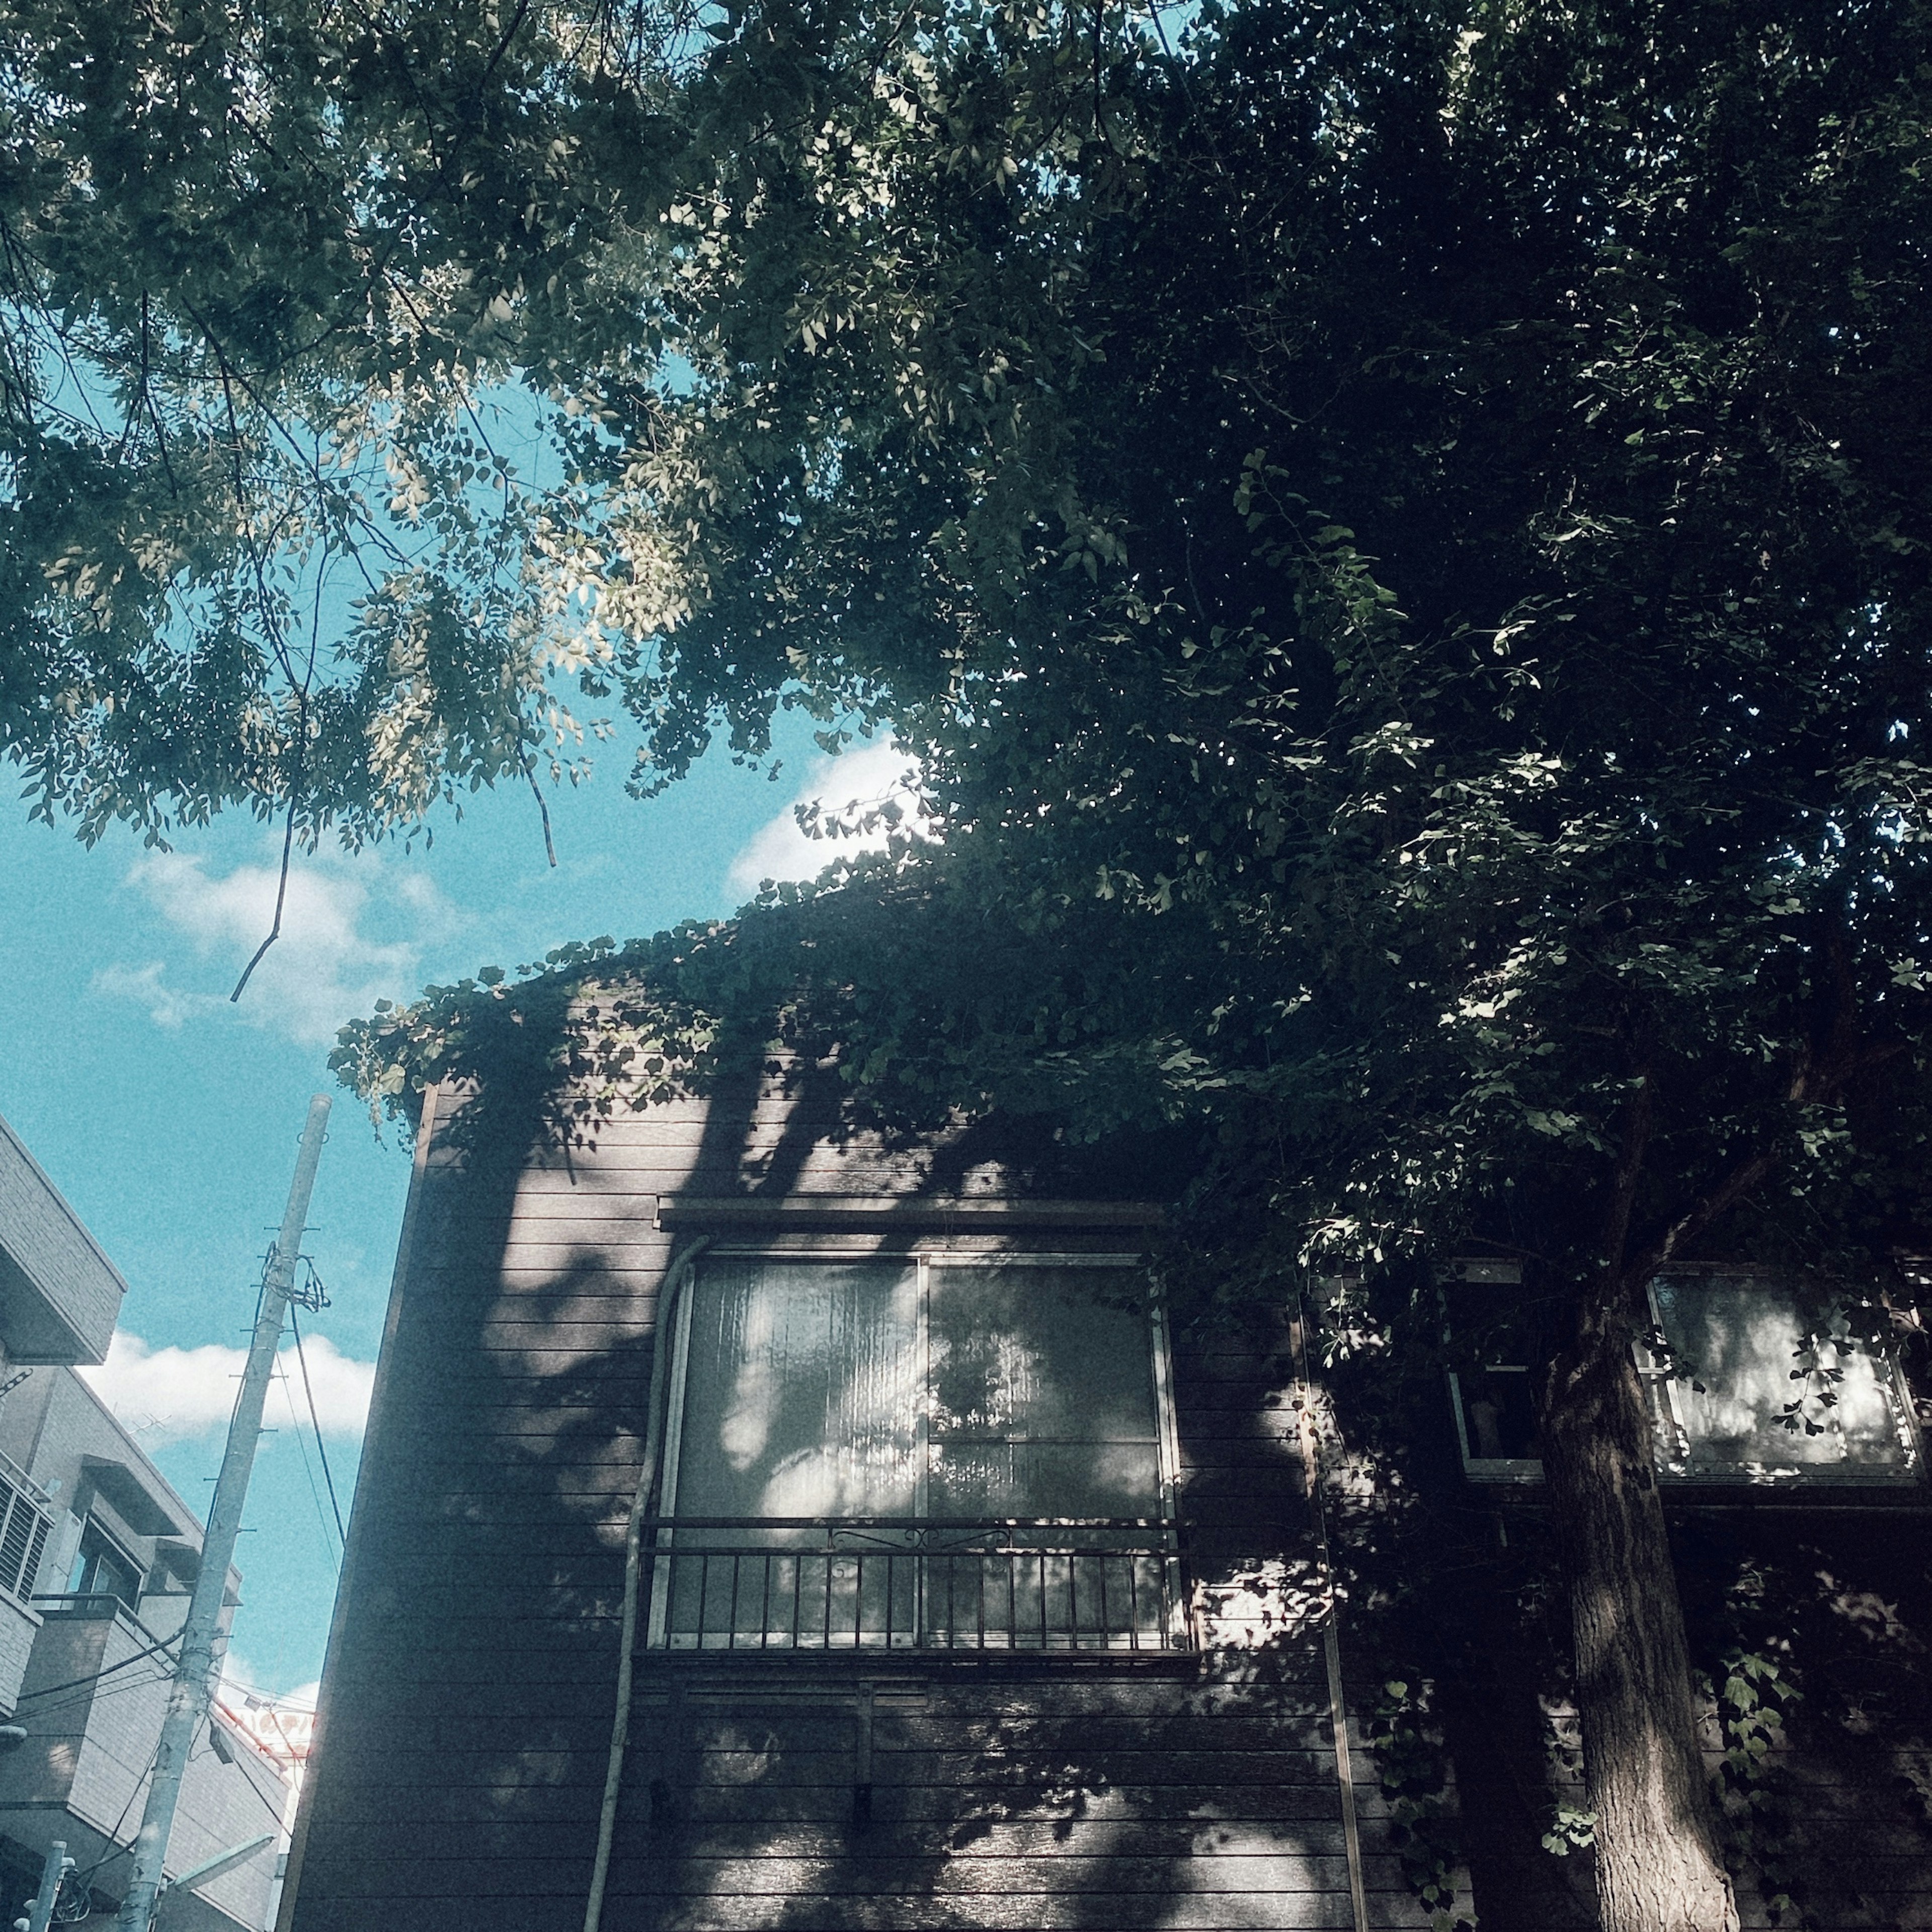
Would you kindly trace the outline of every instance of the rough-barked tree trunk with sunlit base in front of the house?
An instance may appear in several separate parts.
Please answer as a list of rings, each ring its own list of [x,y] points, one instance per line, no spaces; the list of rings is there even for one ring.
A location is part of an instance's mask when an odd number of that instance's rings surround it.
[[[1629,1283],[1578,1300],[1544,1385],[1544,1468],[1569,1588],[1604,1932],[1737,1932],[1696,1737],[1690,1654]]]

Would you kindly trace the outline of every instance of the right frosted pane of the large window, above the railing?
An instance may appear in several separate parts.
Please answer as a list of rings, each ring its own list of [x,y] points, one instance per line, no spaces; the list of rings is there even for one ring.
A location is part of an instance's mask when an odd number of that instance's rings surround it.
[[[935,1265],[931,1279],[931,1515],[1157,1515],[1144,1277]]]

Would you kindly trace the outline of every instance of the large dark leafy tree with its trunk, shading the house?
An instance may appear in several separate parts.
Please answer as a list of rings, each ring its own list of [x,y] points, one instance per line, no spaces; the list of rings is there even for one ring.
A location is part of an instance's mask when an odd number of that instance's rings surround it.
[[[516,595],[587,601],[639,782],[800,701],[896,730],[943,833],[379,1016],[352,1078],[638,970],[645,1090],[777,1014],[883,1097],[1211,1124],[1264,1281],[1520,1254],[1609,1932],[1733,1917],[1642,1285],[1857,1275],[1924,1206],[1928,29],[757,0],[315,66],[412,371],[574,406]],[[452,527],[464,460],[404,471]]]

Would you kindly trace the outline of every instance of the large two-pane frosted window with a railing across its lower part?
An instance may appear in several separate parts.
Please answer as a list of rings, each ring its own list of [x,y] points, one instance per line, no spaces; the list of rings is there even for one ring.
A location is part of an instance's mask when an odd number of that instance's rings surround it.
[[[653,1640],[1175,1640],[1159,1308],[1097,1258],[705,1256],[674,1331]]]

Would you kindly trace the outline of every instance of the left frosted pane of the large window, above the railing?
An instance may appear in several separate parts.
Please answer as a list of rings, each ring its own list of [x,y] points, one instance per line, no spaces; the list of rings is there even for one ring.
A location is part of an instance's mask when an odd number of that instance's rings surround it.
[[[918,1339],[910,1264],[703,1264],[676,1515],[914,1515]]]

